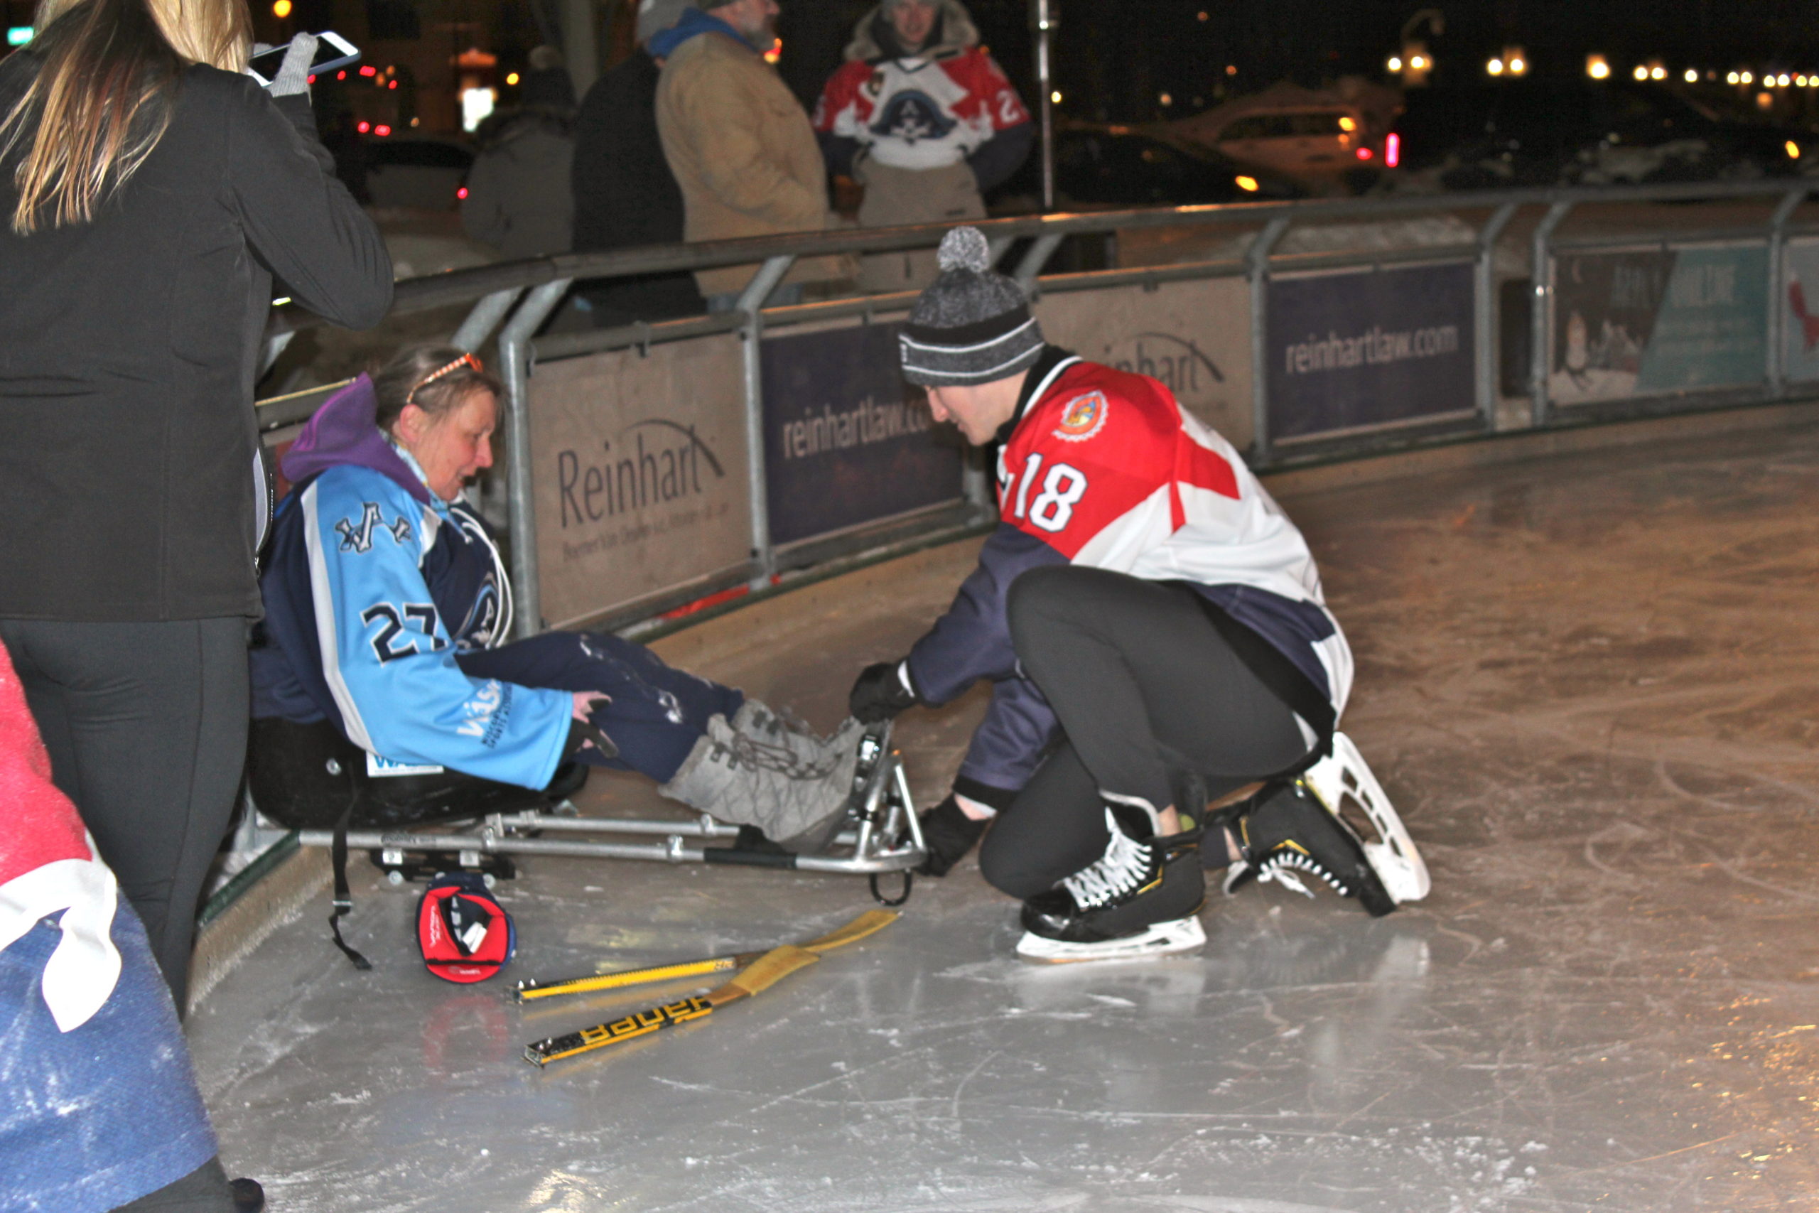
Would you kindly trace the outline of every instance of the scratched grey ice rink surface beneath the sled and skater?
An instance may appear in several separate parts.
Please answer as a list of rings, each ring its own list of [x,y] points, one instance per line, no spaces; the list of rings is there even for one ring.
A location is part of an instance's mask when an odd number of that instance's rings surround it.
[[[1204,955],[1033,967],[968,862],[755,1000],[538,1071],[526,1042],[711,982],[518,1007],[508,980],[802,940],[864,880],[529,860],[518,960],[457,987],[362,858],[373,973],[324,897],[189,1022],[229,1173],[275,1213],[1819,1208],[1819,433],[1286,506],[1426,902],[1215,887]],[[829,727],[973,549],[660,647]],[[979,711],[904,717],[922,804]],[[657,804],[597,777],[584,811]]]

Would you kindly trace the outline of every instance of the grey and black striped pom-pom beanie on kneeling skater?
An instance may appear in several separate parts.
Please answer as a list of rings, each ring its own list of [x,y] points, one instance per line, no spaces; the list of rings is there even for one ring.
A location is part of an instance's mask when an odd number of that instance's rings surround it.
[[[940,276],[922,291],[897,338],[904,378],[924,387],[990,384],[1035,366],[1042,326],[1015,280],[991,269],[977,227],[955,227],[935,255]]]

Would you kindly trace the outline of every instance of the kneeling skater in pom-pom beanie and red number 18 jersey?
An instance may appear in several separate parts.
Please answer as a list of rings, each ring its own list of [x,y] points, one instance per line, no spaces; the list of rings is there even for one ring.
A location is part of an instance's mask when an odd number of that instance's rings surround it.
[[[922,817],[928,871],[993,822],[980,869],[1024,900],[1037,960],[1202,944],[1202,853],[1228,887],[1306,891],[1295,869],[1388,913],[1362,842],[1293,780],[1352,691],[1301,531],[1161,382],[1046,346],[990,260],[979,229],[948,233],[900,347],[937,420],[999,444],[1000,522],[948,613],[851,691],[877,720],[993,684],[953,795]]]

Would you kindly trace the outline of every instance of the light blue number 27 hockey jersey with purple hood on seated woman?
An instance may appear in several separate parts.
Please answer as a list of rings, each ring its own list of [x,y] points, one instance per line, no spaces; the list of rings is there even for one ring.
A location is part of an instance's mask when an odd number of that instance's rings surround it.
[[[486,524],[424,487],[373,424],[364,375],[284,456],[260,589],[253,715],[329,718],[367,753],[542,787],[568,744],[569,695],[471,678],[455,655],[508,627],[506,575]]]

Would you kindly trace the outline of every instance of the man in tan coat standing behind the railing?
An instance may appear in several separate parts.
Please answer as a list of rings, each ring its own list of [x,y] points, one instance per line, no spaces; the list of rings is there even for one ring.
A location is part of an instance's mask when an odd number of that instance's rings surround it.
[[[775,236],[835,226],[828,169],[795,95],[764,60],[777,0],[700,0],[649,42],[664,60],[657,131],[682,187],[688,240]],[[757,266],[695,275],[709,311],[731,311]],[[800,302],[804,282],[848,276],[846,258],[804,258],[771,306]]]

